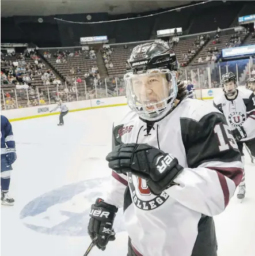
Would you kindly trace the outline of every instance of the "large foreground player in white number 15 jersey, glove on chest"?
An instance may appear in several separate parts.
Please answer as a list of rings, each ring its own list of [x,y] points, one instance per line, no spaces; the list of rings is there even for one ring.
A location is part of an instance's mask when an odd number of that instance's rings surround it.
[[[112,183],[92,205],[89,235],[104,250],[123,207],[128,256],[216,256],[212,216],[223,212],[242,178],[226,119],[187,98],[168,43],[136,46],[127,64],[131,111],[113,125],[106,156]]]

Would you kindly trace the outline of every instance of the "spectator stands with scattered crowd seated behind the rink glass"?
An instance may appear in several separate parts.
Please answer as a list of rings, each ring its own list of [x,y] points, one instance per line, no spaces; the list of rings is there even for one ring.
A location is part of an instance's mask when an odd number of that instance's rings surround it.
[[[222,35],[218,28],[212,38],[209,34],[204,34],[181,41],[171,39],[169,43],[176,52],[180,66],[186,67],[191,62],[191,65],[216,62],[222,48],[242,45],[248,34],[244,29],[233,35]],[[254,32],[250,33],[249,38],[255,39]],[[1,85],[4,89],[1,96],[5,97],[5,107],[10,109],[39,106],[48,104],[49,101],[54,103],[58,98],[63,101],[76,101],[105,97],[107,94],[125,95],[122,78],[125,68],[124,65],[120,66],[120,63],[125,63],[133,47],[104,47],[101,55],[109,76],[102,78],[97,66],[97,52],[93,47],[82,50],[43,51],[41,54],[46,62],[36,50],[25,50],[18,54],[1,52]],[[45,64],[50,65],[50,69]],[[188,82],[197,86],[200,79],[200,84],[206,88],[208,80],[204,78],[205,71],[202,65],[198,74],[196,71],[192,76],[188,74]],[[251,74],[255,76],[255,69]],[[211,86],[218,87],[219,82],[212,79]],[[16,102],[16,99],[22,100],[23,104]]]

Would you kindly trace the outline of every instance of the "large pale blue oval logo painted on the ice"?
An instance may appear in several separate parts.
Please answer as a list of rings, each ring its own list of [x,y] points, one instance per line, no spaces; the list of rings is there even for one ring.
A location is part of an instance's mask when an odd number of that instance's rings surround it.
[[[24,225],[47,235],[87,236],[90,206],[103,191],[110,178],[73,183],[40,195],[20,212]],[[115,232],[124,231],[123,213],[119,210],[113,225]]]

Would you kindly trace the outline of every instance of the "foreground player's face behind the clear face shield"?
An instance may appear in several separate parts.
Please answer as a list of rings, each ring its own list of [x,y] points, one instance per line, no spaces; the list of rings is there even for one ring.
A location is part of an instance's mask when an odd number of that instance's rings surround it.
[[[132,89],[143,106],[147,110],[151,110],[156,104],[156,107],[162,107],[162,101],[169,96],[171,82],[166,79],[166,74],[151,73],[146,76],[137,76],[132,78]]]

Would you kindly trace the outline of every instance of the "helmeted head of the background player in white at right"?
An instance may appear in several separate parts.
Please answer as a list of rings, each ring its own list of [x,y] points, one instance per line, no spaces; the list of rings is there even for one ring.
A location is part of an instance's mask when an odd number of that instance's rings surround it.
[[[226,97],[231,99],[237,92],[237,78],[233,72],[226,73],[222,76],[222,89]]]

